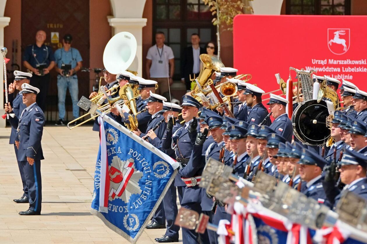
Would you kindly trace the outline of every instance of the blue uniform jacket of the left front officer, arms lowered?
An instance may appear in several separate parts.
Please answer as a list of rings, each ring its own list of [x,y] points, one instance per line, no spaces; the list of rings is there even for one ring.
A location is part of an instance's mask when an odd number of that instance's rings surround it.
[[[14,116],[11,121],[12,125],[19,122],[18,161],[27,161],[27,157],[34,160],[44,159],[41,139],[45,117],[40,107],[34,103],[29,106],[28,111],[24,110],[19,120]]]

